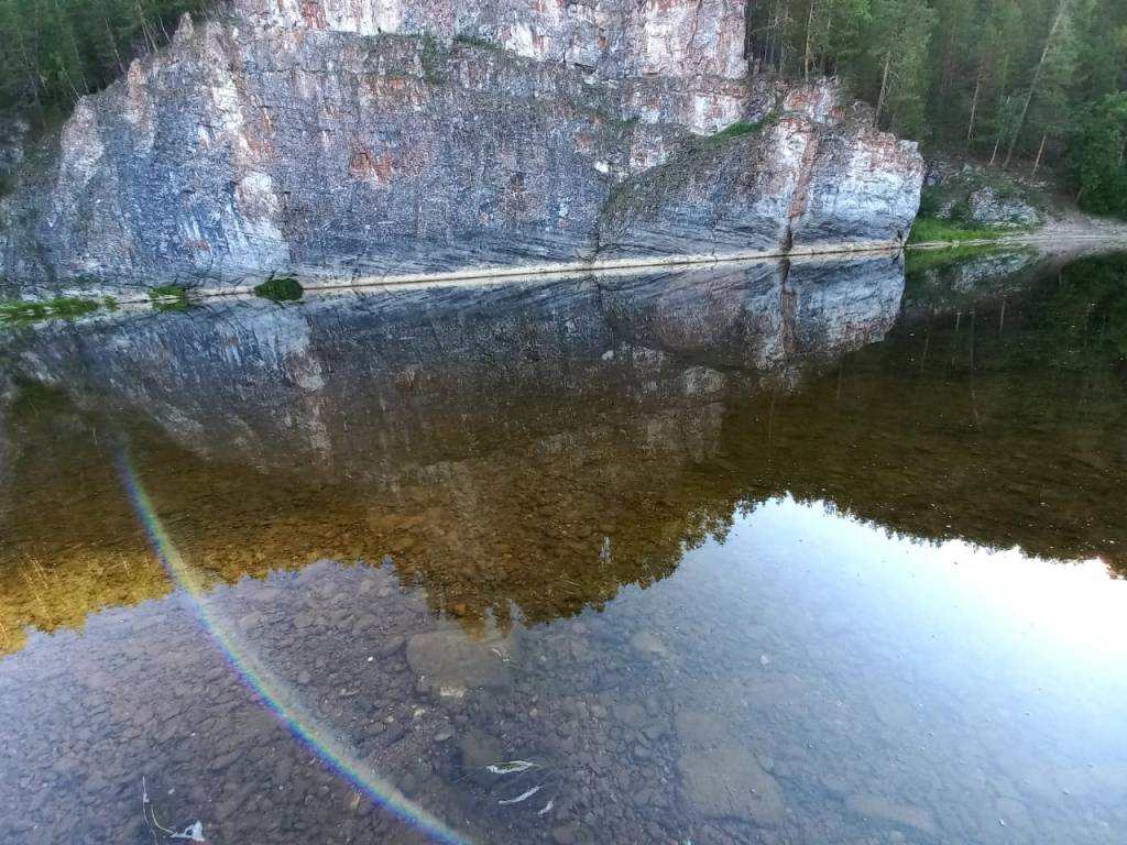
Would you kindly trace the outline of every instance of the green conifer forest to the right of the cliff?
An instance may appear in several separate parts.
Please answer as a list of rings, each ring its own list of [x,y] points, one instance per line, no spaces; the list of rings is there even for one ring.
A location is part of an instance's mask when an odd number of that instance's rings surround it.
[[[1127,213],[1124,0],[751,0],[748,18],[758,70],[838,75],[884,128],[1051,162],[1082,203]]]

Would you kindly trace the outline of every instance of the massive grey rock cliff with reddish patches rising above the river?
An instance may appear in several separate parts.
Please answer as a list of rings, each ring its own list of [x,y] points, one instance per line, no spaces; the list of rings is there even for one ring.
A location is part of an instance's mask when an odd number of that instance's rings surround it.
[[[0,201],[24,291],[891,243],[915,145],[746,77],[738,0],[240,0]],[[715,135],[746,121],[743,134]]]

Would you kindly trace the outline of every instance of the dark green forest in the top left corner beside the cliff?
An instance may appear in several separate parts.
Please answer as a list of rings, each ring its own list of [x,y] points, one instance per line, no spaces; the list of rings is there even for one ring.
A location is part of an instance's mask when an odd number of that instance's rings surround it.
[[[167,43],[184,12],[205,0],[0,0],[0,110],[47,122],[83,94]]]

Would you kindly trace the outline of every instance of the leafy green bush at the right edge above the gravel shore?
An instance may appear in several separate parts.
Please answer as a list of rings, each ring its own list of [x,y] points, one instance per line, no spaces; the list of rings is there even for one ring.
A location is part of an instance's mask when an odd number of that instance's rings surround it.
[[[1104,96],[1077,123],[1068,163],[1081,207],[1127,216],[1127,91]]]

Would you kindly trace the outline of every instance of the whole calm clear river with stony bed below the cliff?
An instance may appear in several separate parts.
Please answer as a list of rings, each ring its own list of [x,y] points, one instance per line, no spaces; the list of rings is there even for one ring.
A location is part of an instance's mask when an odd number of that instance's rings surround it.
[[[0,842],[1122,843],[1127,258],[1021,264],[6,332]]]

